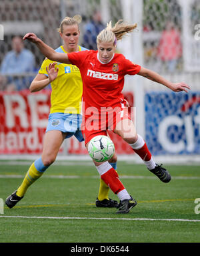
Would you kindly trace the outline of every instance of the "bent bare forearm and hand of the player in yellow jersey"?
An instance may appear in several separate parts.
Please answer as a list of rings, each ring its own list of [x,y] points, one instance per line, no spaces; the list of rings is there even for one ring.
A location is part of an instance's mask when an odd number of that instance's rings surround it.
[[[46,72],[48,77],[45,74],[37,74],[29,87],[30,92],[38,92],[45,88],[48,84],[53,82],[57,78],[58,68],[55,70],[56,63],[50,63],[49,69],[46,67]]]

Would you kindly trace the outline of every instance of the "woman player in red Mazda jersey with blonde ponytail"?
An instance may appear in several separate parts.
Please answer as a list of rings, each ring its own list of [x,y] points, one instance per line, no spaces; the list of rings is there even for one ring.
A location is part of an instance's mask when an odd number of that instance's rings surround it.
[[[115,53],[117,40],[122,39],[126,33],[133,31],[136,27],[137,24],[129,25],[123,21],[118,21],[112,27],[110,22],[97,36],[97,51],[69,54],[55,52],[33,33],[27,33],[24,39],[35,43],[49,59],[72,63],[79,68],[83,80],[85,104],[81,130],[86,147],[94,136],[107,135],[108,129],[113,130],[133,148],[153,174],[157,175],[161,181],[169,182],[171,180],[169,172],[154,162],[145,141],[137,134],[129,114],[125,111],[125,100],[121,94],[124,77],[127,74],[137,74],[163,84],[174,92],[187,92],[190,88],[184,83],[171,83],[159,74],[129,61],[122,54]],[[95,166],[104,182],[119,197],[117,213],[129,213],[137,202],[129,195],[119,180],[117,172],[109,162],[95,162]]]

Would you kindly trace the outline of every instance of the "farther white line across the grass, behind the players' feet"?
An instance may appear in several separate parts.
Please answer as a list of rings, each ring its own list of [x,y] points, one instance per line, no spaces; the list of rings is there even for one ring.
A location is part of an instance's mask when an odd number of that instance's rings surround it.
[[[157,179],[156,176],[133,176],[133,175],[119,175],[120,178],[149,178],[149,179]],[[24,175],[17,174],[5,174],[0,175],[0,178],[24,178]],[[79,176],[79,175],[43,175],[43,178],[99,178],[99,176]],[[200,176],[173,176],[173,180],[199,180]]]

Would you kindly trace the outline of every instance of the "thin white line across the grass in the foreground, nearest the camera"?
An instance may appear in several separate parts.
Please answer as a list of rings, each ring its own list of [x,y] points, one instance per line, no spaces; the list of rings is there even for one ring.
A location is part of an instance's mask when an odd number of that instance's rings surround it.
[[[21,218],[21,219],[93,219],[105,221],[187,221],[200,222],[199,219],[145,219],[145,218],[93,218],[93,217],[46,217],[46,216],[5,216],[0,215],[0,218]]]

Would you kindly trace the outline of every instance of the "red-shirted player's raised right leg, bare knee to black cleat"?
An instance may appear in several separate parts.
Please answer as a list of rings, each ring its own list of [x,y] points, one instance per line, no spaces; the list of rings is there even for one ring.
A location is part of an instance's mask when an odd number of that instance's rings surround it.
[[[169,182],[171,180],[169,172],[167,172],[167,170],[161,165],[156,164],[153,160],[145,140],[143,140],[142,136],[137,134],[132,120],[123,119],[119,121],[115,126],[114,132],[121,136],[121,138],[123,138],[123,140],[133,148],[135,153],[143,160],[147,168],[153,172],[153,174],[157,175],[161,181]]]

